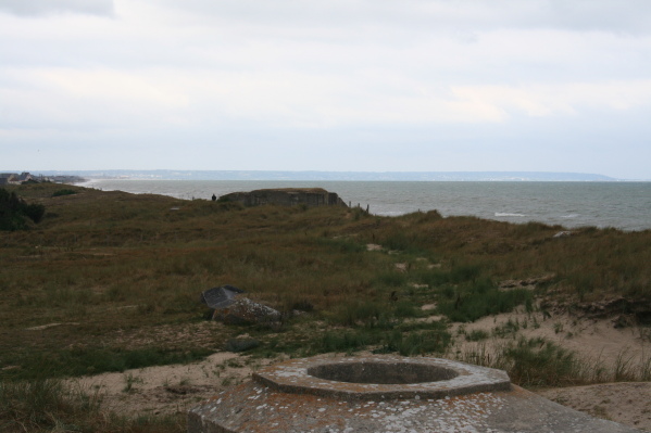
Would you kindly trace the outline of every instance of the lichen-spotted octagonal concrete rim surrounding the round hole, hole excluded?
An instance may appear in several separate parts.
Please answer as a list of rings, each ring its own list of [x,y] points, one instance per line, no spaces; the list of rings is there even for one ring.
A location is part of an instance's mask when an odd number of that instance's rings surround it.
[[[353,383],[320,379],[309,370],[323,366],[350,365],[353,362],[425,366],[452,370],[456,375],[448,380],[420,383]],[[293,359],[264,368],[253,373],[253,380],[271,389],[291,394],[313,394],[346,399],[438,399],[470,393],[510,391],[506,372],[486,367],[440,358],[408,358],[391,355],[364,357]]]

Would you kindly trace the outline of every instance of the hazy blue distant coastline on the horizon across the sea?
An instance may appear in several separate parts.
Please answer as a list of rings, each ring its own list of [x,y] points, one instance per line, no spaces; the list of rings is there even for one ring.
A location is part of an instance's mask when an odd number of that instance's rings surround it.
[[[281,170],[41,170],[42,176],[142,180],[305,180],[305,181],[634,181],[598,174],[550,171],[281,171]],[[637,180],[644,181],[644,180]]]

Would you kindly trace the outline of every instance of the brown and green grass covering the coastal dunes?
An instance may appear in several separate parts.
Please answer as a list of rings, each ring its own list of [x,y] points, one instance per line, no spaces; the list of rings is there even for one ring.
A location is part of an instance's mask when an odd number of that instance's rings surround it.
[[[178,418],[102,415],[95,397],[55,379],[187,362],[239,334],[256,342],[247,353],[258,357],[441,355],[451,322],[516,307],[580,310],[617,298],[615,313],[640,326],[651,317],[651,231],[583,228],[554,238],[562,227],[437,212],[245,208],[48,183],[0,191],[20,203],[21,218],[42,209],[33,224],[18,227],[12,216],[12,231],[0,231],[3,431],[183,431]],[[534,288],[501,284],[538,277]],[[199,332],[199,294],[221,284],[284,311],[283,323]],[[466,360],[505,368],[523,385],[599,380],[546,341],[514,340],[497,358],[484,355]]]

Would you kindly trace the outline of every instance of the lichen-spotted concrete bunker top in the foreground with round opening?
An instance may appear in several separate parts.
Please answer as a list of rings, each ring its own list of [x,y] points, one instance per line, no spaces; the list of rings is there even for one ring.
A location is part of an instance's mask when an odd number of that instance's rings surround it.
[[[501,370],[400,356],[291,359],[188,412],[189,433],[631,433],[511,385]]]

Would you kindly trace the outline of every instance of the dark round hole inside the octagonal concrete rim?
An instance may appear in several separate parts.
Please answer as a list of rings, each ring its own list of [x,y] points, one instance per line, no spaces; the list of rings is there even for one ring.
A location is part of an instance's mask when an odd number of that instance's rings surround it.
[[[454,379],[452,369],[414,362],[348,362],[326,364],[308,368],[308,374],[318,379],[348,383],[406,384]]]

